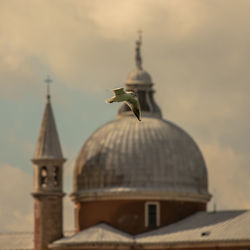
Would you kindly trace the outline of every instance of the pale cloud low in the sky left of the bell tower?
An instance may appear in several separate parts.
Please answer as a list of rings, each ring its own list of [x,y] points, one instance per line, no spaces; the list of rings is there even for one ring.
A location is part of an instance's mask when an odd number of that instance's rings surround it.
[[[32,231],[32,177],[17,167],[0,166],[0,231]]]

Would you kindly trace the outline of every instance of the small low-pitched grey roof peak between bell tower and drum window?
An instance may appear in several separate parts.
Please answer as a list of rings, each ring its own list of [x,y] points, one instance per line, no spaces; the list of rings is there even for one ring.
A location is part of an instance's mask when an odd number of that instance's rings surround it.
[[[132,244],[133,236],[101,223],[51,244],[52,248],[76,244]]]

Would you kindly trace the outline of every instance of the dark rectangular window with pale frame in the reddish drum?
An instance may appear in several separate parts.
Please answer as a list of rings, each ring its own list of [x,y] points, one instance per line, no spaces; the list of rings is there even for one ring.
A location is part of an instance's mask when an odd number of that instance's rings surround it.
[[[159,202],[145,203],[145,227],[160,226],[160,204]]]

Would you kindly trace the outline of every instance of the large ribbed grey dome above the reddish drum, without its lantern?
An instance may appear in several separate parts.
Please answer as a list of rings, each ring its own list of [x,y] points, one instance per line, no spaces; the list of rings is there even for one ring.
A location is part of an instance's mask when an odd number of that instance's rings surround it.
[[[75,165],[74,194],[160,195],[207,201],[207,171],[199,148],[169,121],[125,116],[99,128]]]

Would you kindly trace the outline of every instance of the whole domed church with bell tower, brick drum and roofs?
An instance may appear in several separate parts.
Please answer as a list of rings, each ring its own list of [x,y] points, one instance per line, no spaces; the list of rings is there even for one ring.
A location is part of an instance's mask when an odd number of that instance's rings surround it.
[[[163,119],[152,77],[143,68],[141,39],[125,89],[137,94],[142,121],[121,104],[116,119],[84,143],[70,194],[75,231],[67,236],[62,202],[66,159],[48,94],[32,159],[32,249],[250,250],[250,210],[207,211],[211,194],[204,158],[185,130]]]

